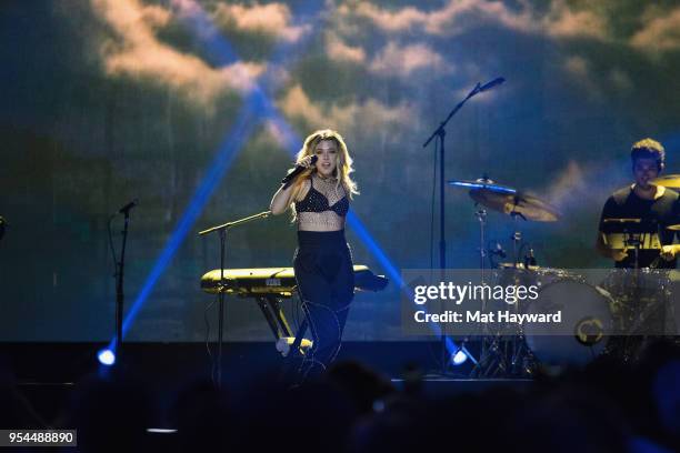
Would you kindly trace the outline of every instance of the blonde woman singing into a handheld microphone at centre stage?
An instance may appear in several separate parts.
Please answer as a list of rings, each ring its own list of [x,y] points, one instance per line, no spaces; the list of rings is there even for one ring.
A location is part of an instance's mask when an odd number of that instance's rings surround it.
[[[312,158],[317,157],[314,163]],[[301,378],[323,372],[340,351],[354,295],[354,271],[344,239],[349,201],[358,194],[350,179],[352,159],[342,137],[330,129],[313,132],[297,155],[304,170],[277,191],[270,210],[290,207],[298,224],[293,269],[313,344],[303,358]]]

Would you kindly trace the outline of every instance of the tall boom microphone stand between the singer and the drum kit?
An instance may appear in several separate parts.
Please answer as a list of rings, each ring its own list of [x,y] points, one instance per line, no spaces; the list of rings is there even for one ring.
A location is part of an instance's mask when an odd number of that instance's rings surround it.
[[[474,88],[472,89],[472,91],[470,91],[468,95],[462,101],[460,101],[458,105],[456,105],[453,110],[451,110],[451,112],[449,112],[449,115],[446,118],[446,120],[443,120],[439,124],[439,127],[434,130],[434,132],[432,132],[432,134],[428,138],[428,140],[426,140],[426,142],[422,144],[422,148],[427,148],[428,144],[430,144],[430,142],[434,140],[434,138],[439,140],[439,147],[440,147],[439,148],[440,149],[440,153],[439,153],[439,266],[441,269],[442,276],[443,276],[444,269],[447,269],[447,241],[446,241],[446,235],[444,235],[444,213],[446,213],[446,208],[444,208],[444,138],[447,135],[447,131],[444,128],[447,127],[447,123],[449,122],[449,120],[451,120],[451,118],[453,118],[453,115],[458,113],[458,111],[466,104],[466,102],[468,102],[470,98],[472,98],[476,94],[479,94],[483,90],[482,90],[481,84],[477,83]],[[446,374],[447,362],[448,362],[446,339],[447,339],[447,333],[446,333],[446,324],[444,324],[444,328],[442,329],[442,334],[441,334],[441,374]]]

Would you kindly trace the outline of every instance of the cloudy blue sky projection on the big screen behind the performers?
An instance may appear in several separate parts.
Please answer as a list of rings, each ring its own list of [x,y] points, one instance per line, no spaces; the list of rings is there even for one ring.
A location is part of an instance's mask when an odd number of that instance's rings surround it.
[[[633,141],[666,141],[669,172],[680,173],[680,8],[672,2],[76,0],[67,8],[10,0],[0,14],[10,69],[0,133],[8,174],[17,175],[3,179],[3,193],[21,201],[0,214],[44,238],[14,243],[10,230],[1,244],[24,258],[0,264],[0,275],[37,288],[10,294],[26,309],[0,320],[4,340],[23,335],[7,320],[30,313],[73,326],[69,338],[46,328],[46,341],[108,339],[107,214],[142,201],[126,283],[136,294],[244,108],[252,133],[197,225],[264,210],[290,168],[288,150],[299,145],[292,137],[334,128],[356,161],[361,195],[352,210],[402,269],[430,263],[434,149],[422,143],[478,82],[507,79],[449,123],[446,178],[489,174],[559,205],[557,224],[521,225],[543,265],[608,265],[592,238],[601,203],[630,179]],[[41,32],[30,33],[26,18]],[[448,262],[474,268],[476,208],[464,192],[446,193]],[[234,231],[230,266],[289,264],[288,220]],[[488,226],[500,242],[514,228],[494,212]],[[381,273],[349,234],[356,260]],[[213,245],[187,236],[132,339],[202,338],[197,279],[216,265]],[[400,339],[390,305],[398,296],[359,295],[348,339]],[[249,310],[234,309],[230,340],[267,335]]]

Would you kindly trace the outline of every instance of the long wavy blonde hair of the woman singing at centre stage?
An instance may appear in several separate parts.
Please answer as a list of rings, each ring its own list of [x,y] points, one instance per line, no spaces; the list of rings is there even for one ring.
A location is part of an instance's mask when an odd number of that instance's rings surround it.
[[[350,178],[350,173],[354,171],[354,169],[352,168],[353,160],[349,155],[344,139],[342,139],[342,135],[340,135],[340,133],[338,133],[337,131],[333,131],[332,129],[321,129],[309,134],[307,139],[304,139],[302,148],[300,149],[300,151],[298,151],[298,154],[296,155],[296,164],[300,163],[300,161],[307,158],[308,155],[314,155],[317,145],[323,140],[330,140],[334,142],[338,147],[338,153],[336,154],[336,169],[333,170],[333,177],[338,178],[338,184],[336,185],[336,189],[338,189],[340,184],[342,184],[344,193],[347,193],[349,199],[352,200],[352,195],[359,194],[359,191],[357,190],[357,183]],[[300,175],[296,179],[296,182],[293,183],[290,193],[291,207],[293,210],[293,220],[296,218],[296,211],[294,205],[292,205],[292,203],[294,201],[302,201],[302,189],[304,188],[304,181],[311,178],[311,175],[316,172],[317,168],[314,165],[311,165],[302,173],[300,173]]]

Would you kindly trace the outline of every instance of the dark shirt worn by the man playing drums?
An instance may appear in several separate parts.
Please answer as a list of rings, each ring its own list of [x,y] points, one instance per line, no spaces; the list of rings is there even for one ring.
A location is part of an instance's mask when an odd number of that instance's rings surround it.
[[[642,219],[642,224],[660,233],[661,244],[672,244],[674,232],[664,226],[680,223],[680,199],[678,192],[669,189],[666,189],[663,195],[656,200],[641,199],[629,185],[612,193],[602,208],[600,231],[613,232],[612,229],[616,226],[611,223],[606,224],[604,219]],[[640,250],[639,266],[649,268],[658,256],[658,250]],[[677,261],[677,259],[672,261],[659,259],[654,268],[674,269]],[[634,252],[629,250],[628,258],[617,261],[616,266],[633,268]]]

